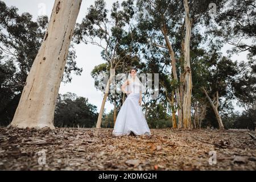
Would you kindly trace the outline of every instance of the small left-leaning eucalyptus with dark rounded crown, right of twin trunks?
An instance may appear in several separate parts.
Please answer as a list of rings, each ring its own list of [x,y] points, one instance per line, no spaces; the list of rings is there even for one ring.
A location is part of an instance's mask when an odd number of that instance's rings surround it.
[[[205,104],[205,98],[214,111],[214,115],[218,122],[219,129],[224,129],[219,109],[228,108],[228,101],[234,99],[232,83],[237,76],[237,63],[228,57],[222,56],[219,52],[207,53],[199,59],[200,65],[193,72],[195,77],[195,89],[197,94],[195,98],[201,101],[201,105]],[[200,93],[204,93],[202,95]],[[203,108],[205,111],[205,107]],[[203,111],[201,111],[202,113]],[[206,113],[204,113],[206,114]]]

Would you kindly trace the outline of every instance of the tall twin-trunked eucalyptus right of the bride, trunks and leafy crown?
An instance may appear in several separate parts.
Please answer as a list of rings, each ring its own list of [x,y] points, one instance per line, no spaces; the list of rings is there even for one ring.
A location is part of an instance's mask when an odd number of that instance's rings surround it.
[[[224,1],[213,1],[219,8]],[[191,127],[192,75],[191,41],[205,23],[210,22],[208,1],[138,1],[139,28],[155,46],[170,55],[179,127]],[[179,60],[177,62],[177,60]]]

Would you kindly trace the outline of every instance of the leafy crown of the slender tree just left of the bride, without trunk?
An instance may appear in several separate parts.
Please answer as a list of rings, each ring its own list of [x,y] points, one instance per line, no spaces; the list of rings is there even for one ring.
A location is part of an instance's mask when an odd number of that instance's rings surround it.
[[[138,42],[142,41],[136,28],[131,25],[134,16],[133,1],[123,1],[113,3],[112,9],[106,9],[104,0],[94,1],[88,9],[85,18],[80,24],[76,24],[76,43],[90,43],[102,48],[102,59],[106,63],[97,65],[91,72],[94,78],[94,86],[105,90],[110,68],[118,73],[127,73],[131,65],[138,64],[139,49]],[[119,80],[115,82],[118,84]],[[110,85],[110,88],[115,86]],[[112,89],[110,89],[112,90]],[[117,107],[121,107],[122,94],[110,93],[108,100]]]

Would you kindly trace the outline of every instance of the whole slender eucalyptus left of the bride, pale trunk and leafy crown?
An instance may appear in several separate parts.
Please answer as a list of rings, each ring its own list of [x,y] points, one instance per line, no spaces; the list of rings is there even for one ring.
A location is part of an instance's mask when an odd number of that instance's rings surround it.
[[[88,13],[77,24],[76,42],[90,43],[102,48],[101,56],[109,65],[110,77],[105,86],[100,113],[96,127],[101,126],[105,102],[109,94],[109,86],[113,81],[115,69],[126,56],[137,52],[137,35],[135,27],[131,24],[134,16],[133,1],[113,3],[112,9],[106,9],[104,0],[97,0],[88,9]],[[136,41],[135,41],[136,40]]]

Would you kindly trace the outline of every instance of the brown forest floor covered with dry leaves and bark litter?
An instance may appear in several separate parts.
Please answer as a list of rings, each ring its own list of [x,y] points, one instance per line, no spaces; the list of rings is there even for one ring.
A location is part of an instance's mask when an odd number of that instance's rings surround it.
[[[112,130],[0,128],[0,170],[256,170],[248,131],[151,129],[149,137],[112,137]],[[216,154],[212,165],[209,152]]]

